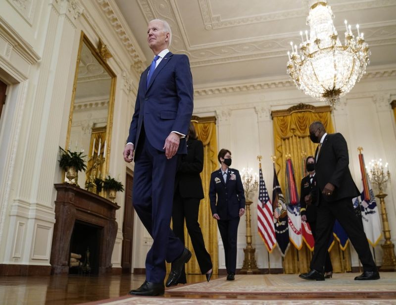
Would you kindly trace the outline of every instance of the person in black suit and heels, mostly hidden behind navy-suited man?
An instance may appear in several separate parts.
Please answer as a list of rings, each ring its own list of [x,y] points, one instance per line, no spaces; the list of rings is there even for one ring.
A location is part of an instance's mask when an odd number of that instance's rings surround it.
[[[193,123],[190,123],[187,135],[187,155],[183,156],[176,173],[175,193],[173,199],[173,232],[184,243],[184,219],[189,232],[199,269],[209,282],[212,276],[212,260],[205,249],[205,243],[198,223],[199,202],[204,198],[202,181],[199,173],[203,169],[203,144],[198,140]],[[178,283],[187,283],[183,269]]]

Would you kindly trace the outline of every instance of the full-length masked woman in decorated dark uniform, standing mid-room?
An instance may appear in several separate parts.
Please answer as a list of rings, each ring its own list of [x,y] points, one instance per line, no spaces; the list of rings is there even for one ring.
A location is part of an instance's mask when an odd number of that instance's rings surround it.
[[[245,192],[239,171],[229,167],[231,152],[222,149],[217,159],[221,167],[212,172],[210,177],[210,208],[213,218],[217,219],[223,241],[227,281],[233,281],[237,267],[238,224],[240,217],[245,213]]]

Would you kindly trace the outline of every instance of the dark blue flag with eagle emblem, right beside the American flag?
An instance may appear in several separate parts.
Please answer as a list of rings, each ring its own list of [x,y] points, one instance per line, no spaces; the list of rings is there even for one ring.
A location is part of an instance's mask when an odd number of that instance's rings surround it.
[[[288,229],[288,212],[285,198],[283,197],[281,186],[279,185],[278,176],[274,165],[274,182],[272,189],[272,208],[274,211],[274,228],[275,237],[281,255],[285,256],[289,248],[289,229]]]

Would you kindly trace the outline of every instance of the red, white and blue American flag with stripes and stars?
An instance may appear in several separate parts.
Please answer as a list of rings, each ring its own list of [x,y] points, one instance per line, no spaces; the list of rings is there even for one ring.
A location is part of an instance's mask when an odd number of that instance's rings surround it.
[[[263,239],[269,253],[276,246],[274,220],[272,214],[272,204],[268,196],[267,188],[263,179],[260,163],[260,183],[257,202],[257,225],[258,234]]]

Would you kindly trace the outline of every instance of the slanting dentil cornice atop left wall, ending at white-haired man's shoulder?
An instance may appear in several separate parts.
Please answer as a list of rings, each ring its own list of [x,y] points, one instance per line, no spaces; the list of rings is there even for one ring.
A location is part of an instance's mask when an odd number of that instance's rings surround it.
[[[97,2],[99,3],[99,7],[102,9],[104,15],[109,20],[111,26],[113,27],[113,30],[115,31],[118,39],[121,41],[121,43],[128,51],[129,55],[131,56],[133,61],[133,68],[139,74],[141,74],[146,69],[146,66],[144,64],[145,59],[142,59],[142,57],[139,55],[138,51],[134,47],[134,44],[132,43],[127,33],[127,30],[120,22],[109,0],[97,0]]]

